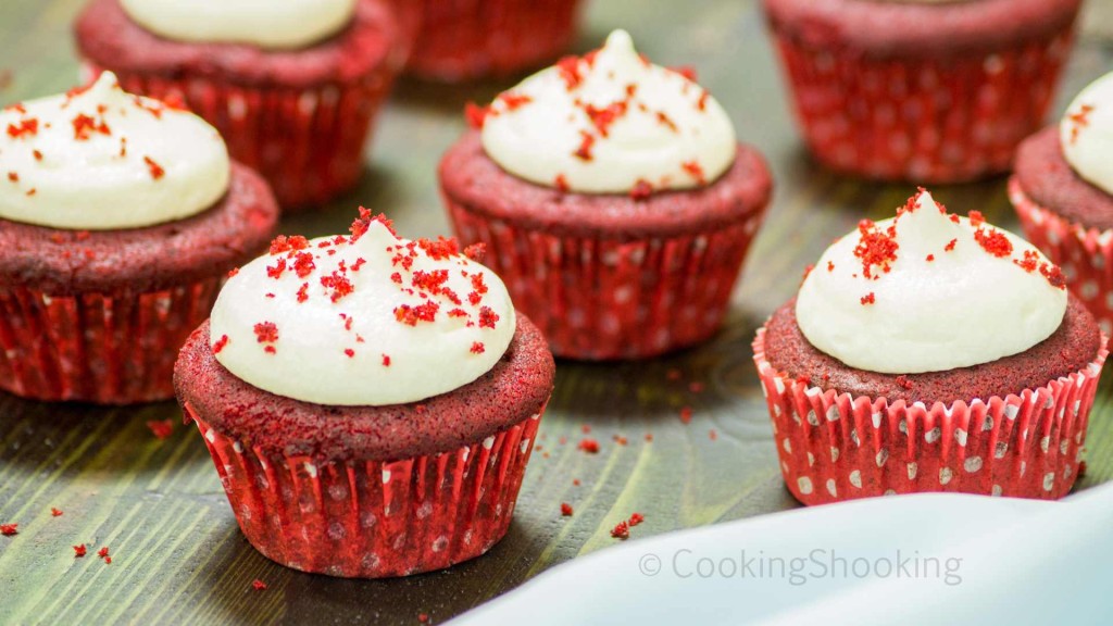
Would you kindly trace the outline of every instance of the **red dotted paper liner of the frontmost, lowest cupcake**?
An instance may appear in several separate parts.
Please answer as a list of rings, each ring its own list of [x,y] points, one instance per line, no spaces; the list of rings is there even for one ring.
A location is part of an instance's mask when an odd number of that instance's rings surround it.
[[[184,409],[252,546],[348,578],[443,569],[490,550],[506,534],[544,411],[472,446],[383,461],[265,451]]]

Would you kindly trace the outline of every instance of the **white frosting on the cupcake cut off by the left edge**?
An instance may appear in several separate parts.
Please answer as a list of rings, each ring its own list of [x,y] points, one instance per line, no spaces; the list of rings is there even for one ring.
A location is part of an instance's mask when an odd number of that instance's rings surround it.
[[[0,218],[66,229],[136,228],[211,207],[228,189],[224,139],[201,118],[120,89],[0,111]]]

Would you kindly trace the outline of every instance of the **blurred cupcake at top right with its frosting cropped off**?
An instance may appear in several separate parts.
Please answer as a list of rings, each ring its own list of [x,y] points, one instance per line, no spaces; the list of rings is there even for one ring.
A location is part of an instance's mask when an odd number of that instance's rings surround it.
[[[1043,124],[1081,0],[764,0],[809,149],[839,172],[1007,170]]]

